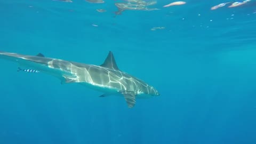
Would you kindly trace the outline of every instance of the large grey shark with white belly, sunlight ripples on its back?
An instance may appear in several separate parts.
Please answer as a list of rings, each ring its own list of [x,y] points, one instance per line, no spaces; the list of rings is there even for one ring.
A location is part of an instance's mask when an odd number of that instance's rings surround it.
[[[17,62],[20,67],[35,69],[57,77],[61,84],[79,83],[101,91],[103,94],[100,97],[122,95],[129,108],[135,105],[137,98],[151,98],[160,95],[153,86],[119,70],[111,51],[100,66],[46,58],[41,53],[23,55],[0,51],[0,58]]]

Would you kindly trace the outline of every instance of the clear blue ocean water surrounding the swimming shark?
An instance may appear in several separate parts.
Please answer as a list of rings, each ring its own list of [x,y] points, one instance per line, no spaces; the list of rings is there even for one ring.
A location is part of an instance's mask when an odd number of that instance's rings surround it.
[[[93,65],[112,51],[161,96],[130,109],[1,59],[0,143],[256,143],[256,1],[158,0],[115,15],[117,2],[1,0],[0,50]]]

